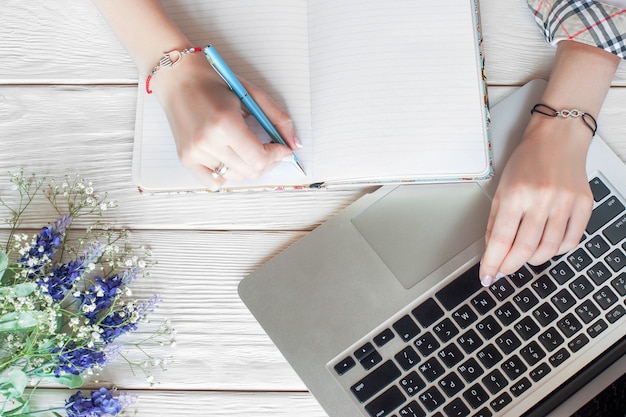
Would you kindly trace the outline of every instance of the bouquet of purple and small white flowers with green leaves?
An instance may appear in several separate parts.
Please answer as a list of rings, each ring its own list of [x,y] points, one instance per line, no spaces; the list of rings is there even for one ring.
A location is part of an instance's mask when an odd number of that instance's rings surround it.
[[[117,415],[134,399],[104,387],[90,395],[77,391],[64,405],[45,410],[32,410],[31,400],[44,381],[80,388],[115,357],[147,375],[150,365],[164,365],[142,344],[171,340],[169,323],[140,342],[121,341],[158,301],[129,299],[129,285],[147,275],[150,254],[130,244],[127,230],[99,221],[72,229],[78,218],[97,219],[115,206],[80,177],[67,176],[59,184],[19,172],[11,183],[13,204],[0,197],[0,207],[9,212],[8,227],[0,229],[0,416]],[[41,195],[57,218],[31,236],[18,233],[24,213]],[[128,347],[146,359],[132,362]]]

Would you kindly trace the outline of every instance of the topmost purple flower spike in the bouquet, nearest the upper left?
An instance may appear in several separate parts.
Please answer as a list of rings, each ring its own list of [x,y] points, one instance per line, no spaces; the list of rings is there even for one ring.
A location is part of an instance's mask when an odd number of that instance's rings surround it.
[[[18,259],[21,266],[32,270],[31,276],[39,272],[47,260],[52,259],[52,255],[61,246],[65,230],[71,222],[72,216],[64,214],[56,222],[41,229],[28,253]]]

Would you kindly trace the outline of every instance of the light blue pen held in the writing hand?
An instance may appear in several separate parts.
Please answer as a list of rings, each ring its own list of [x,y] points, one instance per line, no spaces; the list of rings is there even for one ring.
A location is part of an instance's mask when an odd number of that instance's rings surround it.
[[[259,105],[256,104],[256,101],[254,101],[254,99],[248,94],[244,86],[237,79],[237,76],[231,71],[228,65],[226,65],[226,62],[217,53],[215,47],[213,45],[207,46],[204,48],[204,54],[209,60],[209,63],[211,63],[211,66],[222,77],[226,84],[228,84],[230,89],[237,94],[237,97],[239,97],[250,114],[254,116],[261,127],[267,132],[272,141],[288,147],[289,145],[287,145],[287,142],[285,142],[282,136],[280,136],[278,130],[276,130],[272,122],[270,122],[270,119],[268,119],[265,113],[263,113],[263,110],[261,110]],[[293,162],[296,164],[298,169],[306,175],[295,153],[293,154]]]

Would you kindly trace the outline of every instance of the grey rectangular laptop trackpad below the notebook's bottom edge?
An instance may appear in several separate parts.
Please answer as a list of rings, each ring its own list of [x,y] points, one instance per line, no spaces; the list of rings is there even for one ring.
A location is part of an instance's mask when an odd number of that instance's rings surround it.
[[[490,206],[476,183],[403,185],[352,224],[408,289],[484,236]]]

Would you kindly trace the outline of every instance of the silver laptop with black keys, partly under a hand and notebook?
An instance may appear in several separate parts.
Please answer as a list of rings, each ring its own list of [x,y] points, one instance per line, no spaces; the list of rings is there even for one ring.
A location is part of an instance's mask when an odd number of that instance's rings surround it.
[[[383,186],[240,283],[329,416],[570,415],[626,373],[626,166],[599,137],[580,245],[478,278],[490,196],[545,84],[491,109],[493,180]]]

